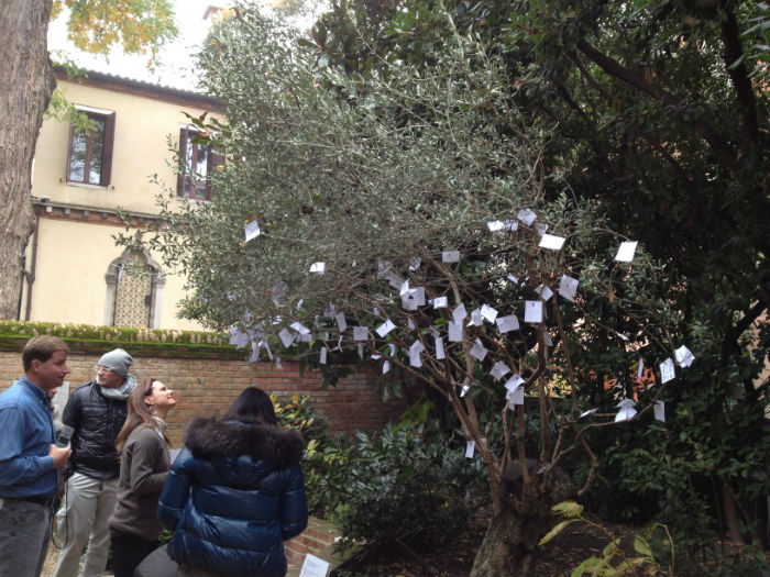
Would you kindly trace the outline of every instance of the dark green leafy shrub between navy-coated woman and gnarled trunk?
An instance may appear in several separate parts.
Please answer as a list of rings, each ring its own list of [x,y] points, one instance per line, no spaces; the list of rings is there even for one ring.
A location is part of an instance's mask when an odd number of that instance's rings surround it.
[[[482,479],[481,459],[465,459],[461,446],[429,425],[359,432],[333,515],[341,546],[444,543],[464,526]]]

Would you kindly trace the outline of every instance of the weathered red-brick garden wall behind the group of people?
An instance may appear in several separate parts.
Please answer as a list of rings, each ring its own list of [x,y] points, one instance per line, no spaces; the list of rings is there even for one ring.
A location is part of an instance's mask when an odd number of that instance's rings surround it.
[[[72,345],[70,345],[72,346]],[[131,347],[125,346],[131,353]],[[100,354],[79,352],[73,347],[68,357],[72,373],[67,376],[70,391],[94,379],[94,366]],[[232,355],[230,355],[232,356]],[[233,358],[174,358],[134,355],[131,374],[138,379],[161,379],[177,393],[178,404],[168,413],[166,431],[174,447],[182,445],[185,425],[196,414],[222,414],[238,395],[256,386],[278,397],[309,395],[314,408],[329,419],[330,433],[374,431],[404,410],[403,401],[383,404],[374,390],[377,370],[364,367],[340,379],[337,387],[322,389],[320,374],[306,370],[300,375],[296,362],[283,360],[283,369],[274,363],[248,363]],[[0,351],[0,392],[23,373],[19,351]]]

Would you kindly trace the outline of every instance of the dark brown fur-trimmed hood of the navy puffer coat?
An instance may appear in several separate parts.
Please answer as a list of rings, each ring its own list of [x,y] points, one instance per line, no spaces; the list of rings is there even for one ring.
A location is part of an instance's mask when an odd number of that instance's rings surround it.
[[[195,458],[238,458],[248,455],[285,469],[299,463],[305,442],[299,431],[262,423],[219,421],[213,417],[194,418],[185,431],[185,445]]]

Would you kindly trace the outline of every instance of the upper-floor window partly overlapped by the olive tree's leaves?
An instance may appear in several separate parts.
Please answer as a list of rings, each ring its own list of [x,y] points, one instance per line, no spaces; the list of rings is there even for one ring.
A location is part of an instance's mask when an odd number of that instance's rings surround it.
[[[176,193],[194,200],[211,200],[211,174],[223,164],[223,155],[198,136],[195,129],[179,130],[179,174]]]

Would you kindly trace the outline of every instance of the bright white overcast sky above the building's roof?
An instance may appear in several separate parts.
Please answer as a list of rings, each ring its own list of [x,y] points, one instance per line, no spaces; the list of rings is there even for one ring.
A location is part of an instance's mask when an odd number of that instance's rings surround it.
[[[160,64],[154,70],[147,68],[147,55],[127,56],[117,48],[110,54],[109,62],[103,56],[86,54],[67,40],[66,13],[63,13],[48,27],[48,51],[65,51],[81,68],[112,74],[134,80],[161,84],[183,90],[196,89],[196,77],[191,69],[191,55],[206,37],[210,20],[204,20],[206,9],[213,5],[227,5],[229,2],[217,0],[174,0],[176,25],[179,29],[177,40],[164,47]],[[55,58],[56,59],[56,58]]]

